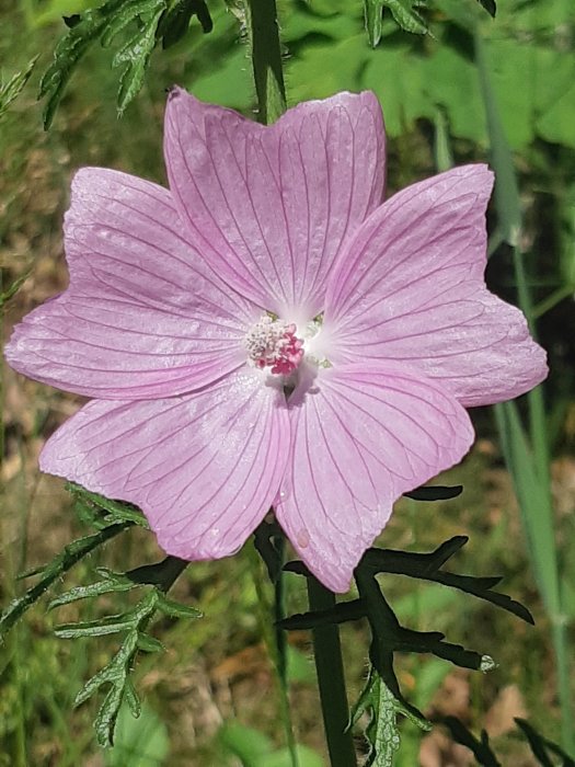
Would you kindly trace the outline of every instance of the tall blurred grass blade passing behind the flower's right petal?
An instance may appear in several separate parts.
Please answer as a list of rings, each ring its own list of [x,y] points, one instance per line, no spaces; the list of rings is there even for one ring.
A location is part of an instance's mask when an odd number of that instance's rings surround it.
[[[495,206],[504,239],[513,248],[514,270],[519,306],[536,335],[533,308],[525,272],[524,254],[519,249],[521,231],[521,205],[511,151],[502,126],[497,103],[491,87],[485,43],[479,25],[474,28],[475,64],[483,96],[492,164],[497,183]],[[495,408],[504,455],[511,473],[519,501],[521,519],[528,540],[528,551],[537,577],[538,587],[552,625],[559,679],[559,697],[562,717],[562,743],[573,752],[575,731],[570,688],[567,655],[567,626],[562,609],[560,571],[554,535],[554,513],[550,480],[550,451],[547,435],[545,409],[542,387],[527,396],[529,435],[532,448],[521,424],[517,405],[506,402]]]

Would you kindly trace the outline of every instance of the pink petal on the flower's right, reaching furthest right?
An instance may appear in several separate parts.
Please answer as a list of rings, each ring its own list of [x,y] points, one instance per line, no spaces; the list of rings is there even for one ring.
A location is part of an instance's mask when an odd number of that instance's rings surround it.
[[[485,165],[457,168],[366,221],[327,290],[335,359],[395,359],[465,407],[518,397],[545,377],[522,313],[485,287],[492,183]]]

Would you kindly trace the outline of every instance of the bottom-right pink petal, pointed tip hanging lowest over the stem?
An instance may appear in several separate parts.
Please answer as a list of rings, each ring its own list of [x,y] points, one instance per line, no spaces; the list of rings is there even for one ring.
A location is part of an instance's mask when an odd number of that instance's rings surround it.
[[[453,397],[393,363],[322,370],[291,415],[277,518],[318,579],[345,592],[393,502],[457,463],[473,428]]]

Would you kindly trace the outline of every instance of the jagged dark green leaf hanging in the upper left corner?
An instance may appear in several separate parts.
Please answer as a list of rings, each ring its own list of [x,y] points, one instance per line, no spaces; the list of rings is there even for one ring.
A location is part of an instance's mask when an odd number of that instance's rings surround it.
[[[99,8],[70,16],[69,32],[60,38],[54,61],[42,78],[39,98],[46,98],[44,126],[51,125],[68,81],[90,46],[100,41],[104,48],[120,38],[120,47],[112,59],[122,69],[117,94],[122,114],[143,83],[150,55],[162,41],[164,47],[176,43],[196,14],[205,32],[211,19],[203,0],[107,0]]]

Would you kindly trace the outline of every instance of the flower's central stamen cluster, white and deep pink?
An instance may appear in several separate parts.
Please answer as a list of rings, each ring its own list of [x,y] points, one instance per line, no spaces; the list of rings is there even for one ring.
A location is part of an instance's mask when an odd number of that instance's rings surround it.
[[[303,341],[296,336],[296,324],[264,314],[245,336],[248,356],[255,367],[289,376],[303,358]]]

